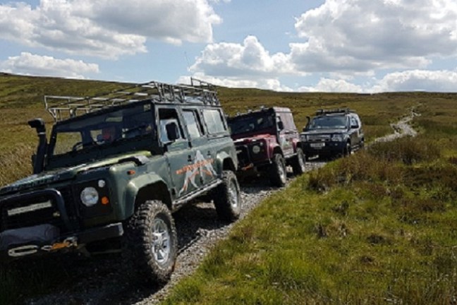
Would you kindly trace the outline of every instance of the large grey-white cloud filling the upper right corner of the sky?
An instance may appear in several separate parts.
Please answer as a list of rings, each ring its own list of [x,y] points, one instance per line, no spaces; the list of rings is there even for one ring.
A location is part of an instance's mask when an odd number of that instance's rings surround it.
[[[305,43],[291,44],[300,71],[347,73],[417,68],[456,56],[454,0],[327,0],[296,19]]]

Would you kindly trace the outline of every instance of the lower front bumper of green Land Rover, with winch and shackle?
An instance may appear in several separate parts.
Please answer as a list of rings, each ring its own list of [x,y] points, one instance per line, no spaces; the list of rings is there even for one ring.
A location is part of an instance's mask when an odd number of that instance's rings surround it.
[[[49,224],[9,229],[0,233],[0,261],[12,261],[24,256],[63,250],[77,250],[85,244],[122,235],[121,222],[73,234],[61,234],[59,227]]]

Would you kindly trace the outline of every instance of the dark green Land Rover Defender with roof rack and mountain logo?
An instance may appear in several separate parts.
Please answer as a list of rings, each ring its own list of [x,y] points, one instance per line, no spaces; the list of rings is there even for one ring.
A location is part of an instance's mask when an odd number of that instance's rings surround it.
[[[205,196],[221,220],[239,217],[238,160],[213,85],[150,82],[44,104],[55,124],[48,141],[44,121],[29,121],[34,174],[0,189],[1,263],[118,245],[145,280],[166,282],[171,213]]]

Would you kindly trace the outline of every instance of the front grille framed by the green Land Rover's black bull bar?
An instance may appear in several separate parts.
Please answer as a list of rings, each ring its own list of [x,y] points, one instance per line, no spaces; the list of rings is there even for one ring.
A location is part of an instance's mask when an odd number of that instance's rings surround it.
[[[66,226],[57,207],[57,202],[62,201],[59,197],[57,191],[44,190],[0,201],[0,232],[42,224],[55,225],[64,230]]]

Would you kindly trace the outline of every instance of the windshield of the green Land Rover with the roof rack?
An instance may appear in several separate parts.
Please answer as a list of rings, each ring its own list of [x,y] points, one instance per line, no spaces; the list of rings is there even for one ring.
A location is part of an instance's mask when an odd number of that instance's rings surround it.
[[[150,135],[153,130],[150,104],[118,109],[56,126],[49,156],[107,148],[114,142]]]

